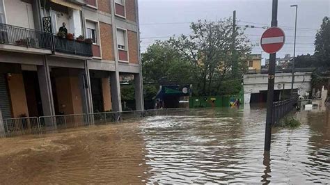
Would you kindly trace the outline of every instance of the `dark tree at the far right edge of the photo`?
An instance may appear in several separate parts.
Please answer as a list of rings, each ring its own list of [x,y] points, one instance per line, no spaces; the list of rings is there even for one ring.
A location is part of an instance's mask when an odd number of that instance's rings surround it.
[[[324,17],[315,37],[315,56],[322,67],[330,67],[330,20]]]

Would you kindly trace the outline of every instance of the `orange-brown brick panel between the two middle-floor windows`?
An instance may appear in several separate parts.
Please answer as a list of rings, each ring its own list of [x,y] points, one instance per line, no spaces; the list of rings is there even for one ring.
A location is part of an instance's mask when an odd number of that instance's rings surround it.
[[[100,22],[100,39],[102,47],[102,58],[107,61],[114,61],[113,34],[111,24]]]

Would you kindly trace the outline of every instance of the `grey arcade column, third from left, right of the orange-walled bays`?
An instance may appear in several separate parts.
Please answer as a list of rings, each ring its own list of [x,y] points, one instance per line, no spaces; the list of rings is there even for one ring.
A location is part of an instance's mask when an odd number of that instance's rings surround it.
[[[119,72],[110,72],[110,84],[111,84],[111,97],[112,97],[112,111],[121,112],[121,97],[120,97],[120,83]]]

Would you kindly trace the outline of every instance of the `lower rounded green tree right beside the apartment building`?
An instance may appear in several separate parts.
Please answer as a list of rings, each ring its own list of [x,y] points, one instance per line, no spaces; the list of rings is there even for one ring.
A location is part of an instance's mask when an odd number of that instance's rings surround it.
[[[158,83],[166,77],[179,84],[189,83],[190,65],[168,42],[157,41],[142,54],[143,81]]]

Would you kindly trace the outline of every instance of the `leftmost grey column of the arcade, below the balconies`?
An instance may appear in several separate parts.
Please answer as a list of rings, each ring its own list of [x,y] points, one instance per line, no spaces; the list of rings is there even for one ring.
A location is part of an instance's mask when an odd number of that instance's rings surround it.
[[[49,66],[47,63],[47,56],[45,56],[43,65],[38,65],[37,69],[43,114],[55,115],[52,83],[50,79]]]

